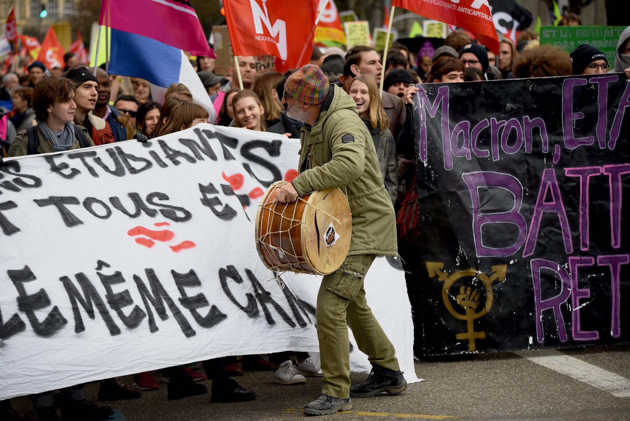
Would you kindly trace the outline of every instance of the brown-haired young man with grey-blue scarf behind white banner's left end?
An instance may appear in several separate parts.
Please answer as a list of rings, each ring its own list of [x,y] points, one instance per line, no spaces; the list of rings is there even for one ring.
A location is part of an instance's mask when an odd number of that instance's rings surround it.
[[[7,157],[22,157],[94,146],[84,127],[72,124],[74,83],[57,76],[42,78],[33,89],[37,126],[20,131]]]

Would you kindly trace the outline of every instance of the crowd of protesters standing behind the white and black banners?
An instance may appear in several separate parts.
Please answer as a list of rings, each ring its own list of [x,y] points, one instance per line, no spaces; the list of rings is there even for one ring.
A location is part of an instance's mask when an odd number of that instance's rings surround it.
[[[578,16],[565,16],[562,25],[580,25]],[[399,42],[383,52],[360,45],[344,51],[337,47],[314,47],[311,64],[320,66],[330,83],[341,86],[354,100],[358,116],[364,121],[374,141],[387,193],[398,212],[399,255],[406,270],[410,297],[419,294],[415,273],[418,264],[417,215],[413,215],[415,192],[415,147],[412,98],[417,83],[459,83],[495,81],[511,78],[539,78],[571,74],[600,74],[609,70],[625,72],[630,77],[630,27],[622,33],[616,59],[609,63],[605,54],[590,45],[580,45],[570,54],[558,47],[539,45],[536,33],[525,31],[516,44],[500,42],[498,54],[476,44],[466,32],[450,33],[444,46],[435,50],[412,52]],[[0,109],[0,138],[4,157],[74,150],[135,139],[147,139],[175,133],[209,119],[209,110],[193,101],[190,90],[181,83],[168,87],[163,104],[152,100],[149,82],[108,74],[104,68],[89,68],[72,53],[64,57],[66,68],[46,69],[42,62],[32,62],[27,73],[6,73],[2,77],[0,100],[12,102],[11,111]],[[261,69],[255,57],[235,57],[237,66],[227,75],[217,75],[215,61],[197,57],[194,64],[207,90],[220,126],[242,127],[253,131],[284,134],[298,141],[302,122],[287,116],[283,106],[284,85],[295,69],[284,74]],[[385,66],[383,91],[379,91]],[[104,66],[103,66],[104,67]],[[239,89],[242,83],[243,90]],[[417,213],[417,212],[416,212]],[[411,299],[412,306],[418,300]],[[421,323],[419,308],[415,317],[415,352],[420,355]],[[242,365],[242,367],[241,367]],[[199,371],[203,366],[205,374]],[[132,386],[119,379],[100,383],[99,399],[110,401],[140,398],[144,392],[166,384],[168,399],[207,393],[202,383],[212,380],[212,399],[220,401],[253,400],[256,394],[242,388],[233,376],[244,369],[273,371],[278,384],[304,384],[305,376],[321,376],[319,366],[308,353],[284,352],[246,355],[239,364],[236,357],[212,359],[197,365],[178,365],[161,373],[135,374]],[[207,377],[206,377],[207,376]],[[101,420],[109,417],[109,406],[97,406],[85,399],[83,385],[64,388],[60,393],[32,396],[38,420]],[[10,402],[0,406],[3,420],[21,419]]]

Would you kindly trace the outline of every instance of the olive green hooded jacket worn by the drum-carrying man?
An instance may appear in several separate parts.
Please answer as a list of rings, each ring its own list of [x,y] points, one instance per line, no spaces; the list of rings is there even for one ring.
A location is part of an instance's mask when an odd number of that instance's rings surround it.
[[[318,120],[312,127],[302,124],[301,133],[299,175],[292,182],[297,193],[340,187],[352,212],[348,255],[398,256],[394,207],[354,100],[330,85]]]

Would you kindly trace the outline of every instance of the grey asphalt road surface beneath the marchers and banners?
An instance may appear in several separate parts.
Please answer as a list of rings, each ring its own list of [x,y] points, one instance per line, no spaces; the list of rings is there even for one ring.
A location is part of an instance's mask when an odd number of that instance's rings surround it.
[[[352,412],[316,419],[630,420],[630,347],[521,355],[416,361],[416,374],[427,381],[411,384],[399,396],[354,398]],[[353,382],[364,377],[352,374]],[[205,394],[168,401],[163,385],[138,400],[106,404],[122,410],[129,421],[296,420],[304,417],[301,408],[321,387],[320,379],[314,377],[301,386],[273,384],[272,372],[245,372],[236,379],[254,389],[258,398],[211,403]],[[131,376],[122,381],[131,384]],[[86,385],[86,393],[88,399],[96,400],[98,383]],[[16,398],[13,405],[35,419],[27,398]]]

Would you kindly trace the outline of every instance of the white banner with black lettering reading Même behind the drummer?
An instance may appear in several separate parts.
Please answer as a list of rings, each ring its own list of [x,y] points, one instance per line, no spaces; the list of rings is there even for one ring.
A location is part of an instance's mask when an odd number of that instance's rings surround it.
[[[318,276],[256,252],[266,188],[297,174],[298,139],[200,124],[148,143],[0,165],[0,399],[177,364],[318,351]],[[397,259],[367,300],[410,382],[413,326]],[[352,337],[352,336],[351,336]],[[353,371],[369,371],[354,346]]]

